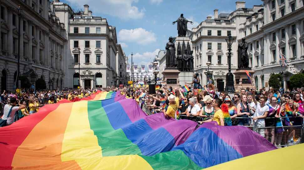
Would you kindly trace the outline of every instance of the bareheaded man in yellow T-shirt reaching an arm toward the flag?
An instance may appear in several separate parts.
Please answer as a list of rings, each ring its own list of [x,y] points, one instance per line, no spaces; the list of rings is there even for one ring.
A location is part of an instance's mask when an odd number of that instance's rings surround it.
[[[221,99],[214,99],[213,103],[212,103],[212,107],[214,108],[215,112],[214,115],[212,117],[212,119],[208,119],[205,121],[198,121],[198,123],[202,124],[204,122],[212,122],[212,121],[216,121],[218,123],[218,125],[220,126],[225,126],[224,124],[224,113],[221,110],[221,104],[222,104],[222,100]]]

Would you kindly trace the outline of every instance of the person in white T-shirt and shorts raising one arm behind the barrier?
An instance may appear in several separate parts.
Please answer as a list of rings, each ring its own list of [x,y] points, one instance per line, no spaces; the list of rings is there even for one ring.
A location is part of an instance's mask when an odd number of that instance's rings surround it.
[[[260,97],[260,101],[255,100],[255,90],[252,90],[252,98],[256,104],[256,109],[253,116],[254,123],[257,124],[257,132],[265,137],[265,118],[267,117],[269,107],[265,104],[267,101],[266,96]]]

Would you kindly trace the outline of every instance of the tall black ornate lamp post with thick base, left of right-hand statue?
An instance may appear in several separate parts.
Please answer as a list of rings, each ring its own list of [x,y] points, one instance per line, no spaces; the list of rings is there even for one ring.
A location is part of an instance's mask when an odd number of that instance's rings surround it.
[[[234,38],[229,34],[228,38],[225,39],[228,44],[228,73],[226,75],[226,87],[225,91],[228,93],[234,93],[234,85],[233,85],[233,74],[231,73],[231,46],[234,41]]]

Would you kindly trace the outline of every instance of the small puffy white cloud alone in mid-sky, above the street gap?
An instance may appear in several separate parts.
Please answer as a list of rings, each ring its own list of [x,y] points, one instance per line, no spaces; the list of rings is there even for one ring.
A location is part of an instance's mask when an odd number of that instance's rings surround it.
[[[122,29],[118,32],[118,38],[121,41],[136,42],[143,45],[156,42],[155,33],[146,31],[144,28]]]

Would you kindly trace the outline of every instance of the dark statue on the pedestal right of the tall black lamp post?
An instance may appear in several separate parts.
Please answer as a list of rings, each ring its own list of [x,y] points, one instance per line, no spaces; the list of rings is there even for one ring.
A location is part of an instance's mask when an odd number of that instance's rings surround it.
[[[249,68],[248,44],[245,38],[238,43],[238,68]]]

